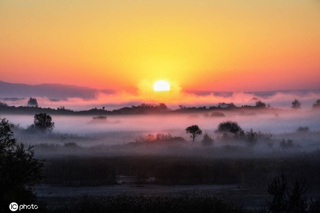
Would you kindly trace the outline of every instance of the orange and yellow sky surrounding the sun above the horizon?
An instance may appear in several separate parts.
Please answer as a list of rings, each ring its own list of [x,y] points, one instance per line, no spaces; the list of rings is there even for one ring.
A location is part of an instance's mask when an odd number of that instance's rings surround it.
[[[99,89],[320,88],[318,0],[0,1],[0,80]],[[151,91],[150,91],[151,92]]]

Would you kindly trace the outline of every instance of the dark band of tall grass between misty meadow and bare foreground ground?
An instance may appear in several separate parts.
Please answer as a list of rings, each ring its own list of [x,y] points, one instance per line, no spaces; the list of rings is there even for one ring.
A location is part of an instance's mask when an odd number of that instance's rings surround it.
[[[283,158],[200,158],[132,155],[116,157],[49,158],[44,165],[47,183],[61,185],[105,185],[116,175],[135,175],[139,182],[154,176],[156,184],[238,184],[267,186],[277,174],[288,182],[306,179],[320,189],[320,151]]]

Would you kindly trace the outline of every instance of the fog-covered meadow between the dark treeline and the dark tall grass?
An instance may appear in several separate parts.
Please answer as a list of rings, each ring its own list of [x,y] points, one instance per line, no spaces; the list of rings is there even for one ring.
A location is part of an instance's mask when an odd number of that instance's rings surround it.
[[[16,124],[13,132],[18,141],[35,145],[36,154],[44,154],[42,157],[47,154],[259,157],[261,154],[280,156],[319,148],[320,113],[317,111],[254,112],[229,110],[224,113],[214,111],[212,114],[121,115],[102,117],[103,119],[53,115],[55,129],[51,133],[28,130],[33,116],[2,117]],[[240,125],[243,136],[216,131],[220,122],[228,120]],[[201,128],[203,134],[197,136],[193,144],[185,129],[194,124]],[[257,140],[255,146],[248,146],[246,140],[246,134],[251,129]],[[210,146],[203,146],[201,143],[205,133],[213,139]],[[292,144],[284,147],[288,140]]]

